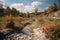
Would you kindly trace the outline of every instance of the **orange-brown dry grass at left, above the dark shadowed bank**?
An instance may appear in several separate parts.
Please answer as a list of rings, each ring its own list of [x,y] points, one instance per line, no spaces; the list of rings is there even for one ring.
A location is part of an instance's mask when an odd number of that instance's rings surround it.
[[[19,16],[18,17],[13,17],[13,16],[0,17],[0,28],[4,29],[11,20],[15,23],[15,26],[20,26],[21,22],[27,19]]]

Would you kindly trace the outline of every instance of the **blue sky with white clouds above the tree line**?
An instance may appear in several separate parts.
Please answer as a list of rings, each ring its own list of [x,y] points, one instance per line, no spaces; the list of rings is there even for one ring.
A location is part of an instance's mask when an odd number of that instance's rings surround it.
[[[44,11],[49,5],[59,3],[60,0],[1,0],[10,8],[16,8],[20,12],[34,12],[35,8],[38,11]]]

